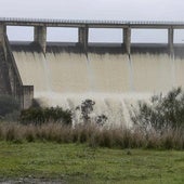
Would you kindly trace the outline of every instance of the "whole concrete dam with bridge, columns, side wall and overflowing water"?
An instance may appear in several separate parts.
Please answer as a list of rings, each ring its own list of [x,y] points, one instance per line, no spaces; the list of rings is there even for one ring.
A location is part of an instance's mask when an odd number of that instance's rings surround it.
[[[6,26],[34,26],[34,42],[10,41]],[[47,42],[47,27],[77,27],[78,42]],[[121,28],[122,43],[89,43],[90,28]],[[168,30],[168,43],[131,43],[131,29]],[[95,114],[109,122],[129,121],[137,100],[184,87],[184,45],[173,43],[176,22],[95,22],[0,18],[0,93],[23,108],[32,98],[43,106],[75,109],[95,101]]]

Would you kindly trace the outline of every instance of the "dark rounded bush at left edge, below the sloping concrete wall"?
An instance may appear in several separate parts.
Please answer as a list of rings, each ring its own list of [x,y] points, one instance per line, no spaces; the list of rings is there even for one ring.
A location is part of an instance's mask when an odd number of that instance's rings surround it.
[[[11,116],[21,109],[18,102],[10,95],[0,95],[0,117]],[[16,113],[15,113],[16,111]]]

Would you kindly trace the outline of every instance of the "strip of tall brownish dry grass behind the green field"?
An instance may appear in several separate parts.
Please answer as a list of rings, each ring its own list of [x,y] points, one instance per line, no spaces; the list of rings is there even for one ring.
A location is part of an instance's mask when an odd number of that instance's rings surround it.
[[[182,128],[144,132],[140,128],[102,128],[95,124],[61,123],[19,124],[0,123],[0,140],[11,142],[48,141],[57,143],[86,143],[92,147],[183,149]]]

